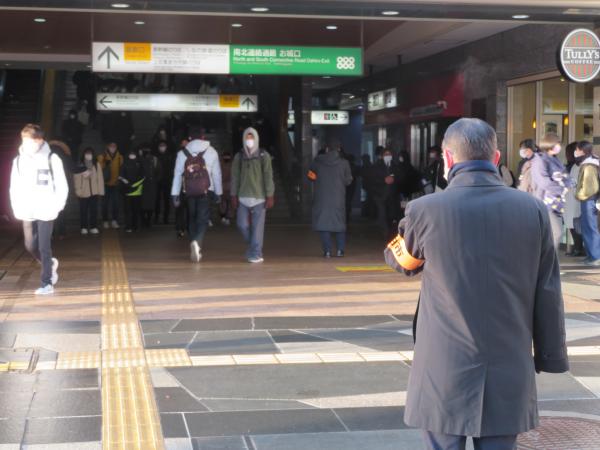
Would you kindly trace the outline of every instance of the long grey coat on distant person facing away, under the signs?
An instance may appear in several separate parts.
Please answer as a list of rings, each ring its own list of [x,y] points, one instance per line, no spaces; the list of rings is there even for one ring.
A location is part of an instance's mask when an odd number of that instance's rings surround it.
[[[346,231],[346,186],[352,183],[350,164],[338,151],[319,155],[310,170],[315,173],[312,223],[315,231]]]

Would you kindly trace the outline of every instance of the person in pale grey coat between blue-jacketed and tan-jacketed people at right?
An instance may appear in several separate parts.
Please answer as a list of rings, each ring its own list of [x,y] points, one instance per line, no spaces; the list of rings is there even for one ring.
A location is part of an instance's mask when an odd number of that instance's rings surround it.
[[[571,142],[565,149],[565,156],[567,158],[567,173],[571,179],[573,185],[577,184],[579,179],[580,165],[583,161],[583,157],[577,158],[575,152],[577,150],[577,142]],[[565,214],[563,216],[565,221],[565,228],[571,233],[573,238],[573,245],[567,256],[578,257],[584,256],[585,251],[583,250],[583,238],[581,236],[581,203],[575,197],[576,190],[569,189],[567,193],[567,201],[565,203]]]

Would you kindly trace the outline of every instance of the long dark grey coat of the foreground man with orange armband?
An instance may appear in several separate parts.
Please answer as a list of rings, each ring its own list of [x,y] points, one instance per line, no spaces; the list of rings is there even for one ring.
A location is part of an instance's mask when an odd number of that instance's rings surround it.
[[[405,421],[461,436],[536,427],[536,370],[568,370],[548,211],[482,166],[411,202],[400,225],[425,260]]]

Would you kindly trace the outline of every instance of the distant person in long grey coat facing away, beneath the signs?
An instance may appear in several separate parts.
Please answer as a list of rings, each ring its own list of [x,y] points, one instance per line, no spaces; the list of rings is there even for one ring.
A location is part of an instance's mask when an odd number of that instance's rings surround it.
[[[334,234],[336,256],[341,258],[346,252],[346,188],[352,183],[352,171],[338,145],[328,146],[325,154],[315,158],[308,178],[314,184],[312,226],[321,238],[323,256],[331,258]]]

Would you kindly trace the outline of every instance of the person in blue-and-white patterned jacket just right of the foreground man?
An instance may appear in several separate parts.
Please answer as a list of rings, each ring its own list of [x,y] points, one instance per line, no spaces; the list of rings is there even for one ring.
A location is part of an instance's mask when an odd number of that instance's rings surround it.
[[[531,162],[533,195],[548,208],[556,250],[559,249],[562,238],[567,193],[572,187],[565,166],[558,159],[561,150],[560,138],[554,133],[548,133],[540,143],[540,152]]]

